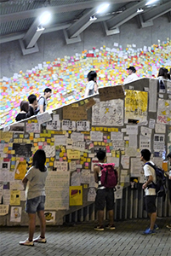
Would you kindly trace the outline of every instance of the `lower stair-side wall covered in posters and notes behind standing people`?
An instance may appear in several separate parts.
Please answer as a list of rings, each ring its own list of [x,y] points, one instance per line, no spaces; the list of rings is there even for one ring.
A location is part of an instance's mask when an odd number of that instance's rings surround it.
[[[27,224],[22,179],[31,168],[37,149],[43,149],[47,156],[45,210],[55,211],[61,217],[60,224],[61,219],[71,212],[94,205],[94,190],[98,186],[94,181],[94,166],[99,163],[97,152],[100,148],[105,151],[105,161],[114,163],[117,169],[117,188],[120,188],[117,192],[122,193],[116,194],[116,201],[122,199],[125,204],[128,203],[130,198],[125,199],[124,196],[129,195],[130,182],[133,183],[134,177],[138,193],[143,193],[141,149],[149,149],[151,160],[168,172],[165,158],[171,152],[171,121],[168,118],[171,109],[168,97],[170,84],[165,83],[162,93],[157,85],[157,79],[139,79],[122,87],[124,97],[121,98],[117,95],[115,98],[116,87],[113,86],[111,100],[108,96],[105,99],[102,91],[101,100],[100,95],[94,95],[77,101],[77,104],[71,103],[67,108],[55,108],[47,119],[43,119],[43,124],[38,124],[37,117],[32,117],[19,125],[16,123],[12,129],[13,125],[9,125],[9,131],[0,131],[2,204],[9,206],[9,213],[4,212],[6,218],[15,205],[22,208],[22,216],[17,223]],[[106,92],[107,88],[101,90]],[[54,120],[58,120],[57,125]],[[29,186],[26,188],[27,191]],[[133,203],[134,198],[133,194]],[[125,206],[120,206],[119,201],[118,205],[121,212],[125,212]],[[135,203],[134,211],[137,207]],[[124,218],[129,218],[129,213]],[[54,224],[59,224],[58,219],[55,218]],[[12,223],[9,221],[8,224]]]

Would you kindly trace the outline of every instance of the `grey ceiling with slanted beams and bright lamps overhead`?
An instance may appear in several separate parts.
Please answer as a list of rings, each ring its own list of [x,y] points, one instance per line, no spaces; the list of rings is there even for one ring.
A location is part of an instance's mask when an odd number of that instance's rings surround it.
[[[102,3],[110,3],[104,14],[96,14]],[[171,22],[171,0],[0,0],[0,44],[20,40],[23,54],[37,51],[37,40],[45,32],[64,31],[66,44],[81,41],[80,34],[94,22],[103,22],[106,35],[119,33],[119,26],[137,16],[140,27],[152,26],[153,20],[168,15]],[[137,9],[143,9],[138,13]],[[52,19],[40,26],[38,17],[49,11]],[[91,18],[90,18],[91,17]],[[97,19],[95,19],[97,18]]]

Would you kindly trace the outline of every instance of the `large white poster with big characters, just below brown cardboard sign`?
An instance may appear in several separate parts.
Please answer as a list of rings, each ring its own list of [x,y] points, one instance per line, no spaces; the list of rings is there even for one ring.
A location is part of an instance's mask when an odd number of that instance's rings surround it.
[[[92,107],[92,125],[123,125],[123,100],[100,102],[96,99],[96,104]]]

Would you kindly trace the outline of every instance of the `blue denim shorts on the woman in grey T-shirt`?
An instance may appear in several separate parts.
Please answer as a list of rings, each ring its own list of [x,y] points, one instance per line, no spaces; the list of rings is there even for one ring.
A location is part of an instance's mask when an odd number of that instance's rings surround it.
[[[44,210],[45,195],[40,195],[26,200],[26,212],[36,213]]]

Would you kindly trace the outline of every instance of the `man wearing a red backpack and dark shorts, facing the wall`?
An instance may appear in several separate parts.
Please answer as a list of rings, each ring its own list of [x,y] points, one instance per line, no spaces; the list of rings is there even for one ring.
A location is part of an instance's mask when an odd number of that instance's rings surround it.
[[[105,151],[99,150],[97,152],[97,158],[99,164],[94,166],[94,179],[98,183],[97,195],[95,197],[95,208],[98,214],[98,224],[94,227],[94,230],[103,231],[103,221],[104,221],[104,208],[106,202],[106,208],[109,212],[109,224],[107,226],[110,230],[115,230],[113,223],[114,218],[114,187],[117,185],[117,171],[114,170],[114,164],[104,164],[105,163]],[[106,175],[108,174],[108,177]],[[105,178],[103,178],[105,177]],[[110,183],[111,181],[111,183]],[[109,185],[107,185],[110,183]]]

